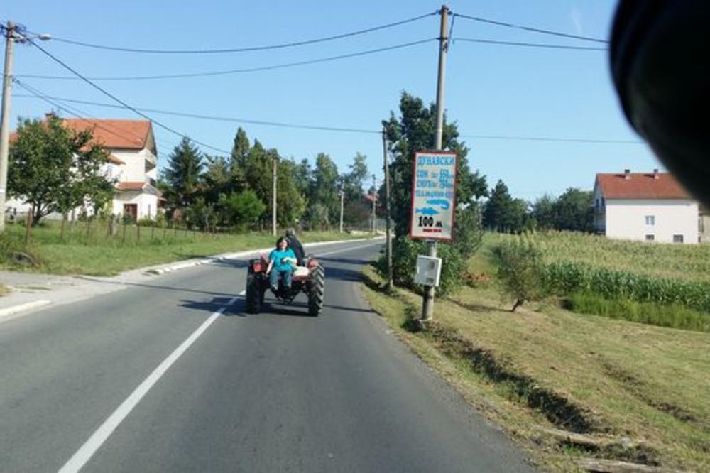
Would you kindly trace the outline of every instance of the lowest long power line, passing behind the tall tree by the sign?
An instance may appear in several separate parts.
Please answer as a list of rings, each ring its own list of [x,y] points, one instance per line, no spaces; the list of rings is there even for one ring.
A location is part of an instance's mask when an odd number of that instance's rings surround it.
[[[13,97],[26,97],[22,94],[13,94]],[[87,100],[80,99],[67,99],[62,97],[49,97],[50,99],[57,100],[60,102],[70,102],[76,104],[93,105],[95,107],[109,107],[114,109],[125,109],[126,107],[121,107],[119,105],[107,104],[104,102],[89,102]],[[315,131],[342,131],[346,133],[360,133],[360,134],[381,134],[381,130],[371,130],[371,129],[360,129],[360,128],[349,128],[343,126],[319,126],[310,124],[295,124],[295,123],[285,123],[280,121],[263,121],[263,120],[252,120],[252,119],[241,119],[235,117],[227,116],[211,116],[204,114],[193,114],[187,112],[171,112],[168,110],[160,109],[138,109],[143,112],[151,112],[155,114],[165,114],[173,116],[184,116],[186,118],[201,119],[201,120],[211,120],[211,121],[227,121],[232,123],[244,123],[244,124],[254,124],[254,125],[266,125],[266,126],[278,126],[282,128],[293,128],[293,129],[307,129]],[[633,140],[607,140],[607,139],[594,139],[594,138],[555,138],[554,136],[520,136],[520,135],[471,135],[464,134],[459,135],[461,138],[475,138],[475,139],[488,139],[488,140],[511,140],[511,141],[552,141],[552,142],[563,142],[563,143],[611,143],[611,144],[643,144],[643,141],[633,141]]]

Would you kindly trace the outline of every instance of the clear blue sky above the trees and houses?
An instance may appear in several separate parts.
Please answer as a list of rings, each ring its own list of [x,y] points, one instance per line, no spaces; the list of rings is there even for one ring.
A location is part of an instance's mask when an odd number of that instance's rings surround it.
[[[519,23],[565,33],[608,38],[616,1],[451,1],[454,13]],[[5,2],[0,20],[58,38],[126,48],[200,49],[284,43],[330,36],[435,11],[435,1],[32,1]],[[328,43],[283,50],[220,55],[141,55],[82,48],[56,40],[40,43],[89,77],[204,72],[326,58],[438,36],[438,16]],[[453,38],[596,46],[457,18]],[[134,107],[283,121],[320,126],[380,129],[406,90],[426,102],[436,93],[437,44],[314,65],[216,77],[97,82]],[[22,75],[69,74],[31,45],[16,45],[13,72],[48,95],[111,102],[76,80]],[[13,93],[26,94],[20,87]],[[136,118],[129,110],[74,104],[101,118]],[[13,99],[17,116],[43,116],[38,99]],[[623,119],[613,93],[607,53],[550,50],[454,41],[447,64],[446,108],[464,135],[538,136],[640,141]],[[229,150],[239,124],[152,114],[199,141]],[[64,114],[69,116],[68,114]],[[382,175],[378,134],[285,129],[243,124],[250,138],[282,156],[313,160],[329,153],[346,170],[356,152]],[[179,138],[155,129],[161,163]],[[591,189],[594,174],[661,167],[638,143],[569,143],[464,138],[469,163],[508,185],[515,197],[534,200],[566,187]],[[209,151],[209,150],[205,150]]]

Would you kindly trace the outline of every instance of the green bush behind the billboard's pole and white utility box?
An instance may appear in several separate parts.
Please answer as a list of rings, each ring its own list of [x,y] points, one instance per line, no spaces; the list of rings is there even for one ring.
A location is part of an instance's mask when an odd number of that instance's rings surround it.
[[[442,259],[440,294],[446,295],[465,282],[466,263],[481,246],[483,229],[481,215],[476,205],[457,210],[454,241],[440,243],[437,256]],[[395,238],[392,242],[392,276],[395,284],[413,288],[417,255],[427,254],[427,244],[422,240]],[[386,274],[387,261],[383,256],[377,264],[378,271]]]

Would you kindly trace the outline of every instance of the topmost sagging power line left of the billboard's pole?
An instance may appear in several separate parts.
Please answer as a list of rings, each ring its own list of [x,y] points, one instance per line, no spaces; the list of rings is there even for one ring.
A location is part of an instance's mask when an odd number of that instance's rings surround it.
[[[93,43],[84,43],[82,41],[70,40],[66,38],[58,38],[53,36],[53,40],[61,41],[62,43],[68,43],[72,45],[84,46],[85,48],[95,48],[104,49],[111,51],[119,51],[122,53],[144,53],[144,54],[221,54],[221,53],[246,53],[249,51],[264,51],[273,49],[283,49],[283,48],[293,48],[295,46],[310,45],[315,43],[324,43],[326,41],[338,40],[342,38],[349,38],[351,36],[358,36],[365,33],[372,33],[373,31],[380,31],[387,28],[393,28],[395,26],[404,25],[406,23],[413,23],[414,21],[419,21],[422,18],[427,18],[429,16],[436,15],[438,12],[426,13],[425,15],[415,16],[413,18],[407,18],[405,20],[394,21],[393,23],[386,23],[380,26],[373,26],[371,28],[365,28],[357,31],[350,31],[348,33],[341,33],[333,36],[325,36],[322,38],[314,38],[310,40],[293,41],[291,43],[280,43],[273,45],[261,45],[261,46],[249,46],[243,48],[224,48],[224,49],[202,49],[202,50],[160,50],[160,49],[141,49],[141,48],[121,48],[118,46],[110,45],[99,45]]]

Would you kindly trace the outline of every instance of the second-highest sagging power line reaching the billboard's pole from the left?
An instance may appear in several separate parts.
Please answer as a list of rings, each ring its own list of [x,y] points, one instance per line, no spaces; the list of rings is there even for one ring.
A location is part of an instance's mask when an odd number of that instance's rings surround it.
[[[365,51],[359,51],[357,53],[348,53],[348,54],[342,54],[342,55],[337,55],[337,56],[330,56],[328,58],[319,58],[319,59],[312,59],[312,60],[305,60],[305,61],[297,61],[297,62],[285,62],[283,64],[276,64],[276,65],[268,65],[268,66],[261,66],[261,67],[247,67],[244,69],[231,69],[231,70],[217,70],[217,71],[211,71],[211,72],[188,72],[185,74],[162,74],[162,75],[138,75],[138,76],[123,76],[123,77],[82,77],[84,80],[158,80],[158,79],[182,79],[186,77],[209,77],[209,76],[215,76],[215,75],[231,75],[231,74],[241,74],[241,73],[246,73],[246,72],[258,72],[258,71],[263,71],[263,70],[274,70],[274,69],[283,69],[286,67],[296,67],[296,66],[301,66],[301,65],[310,65],[310,64],[317,64],[320,62],[329,62],[329,61],[334,61],[334,60],[340,60],[340,59],[346,59],[346,58],[355,58],[357,56],[364,56],[368,54],[374,54],[374,53],[383,53],[385,51],[390,51],[390,50],[395,50],[395,49],[400,49],[400,48],[409,48],[410,46],[414,45],[419,45],[423,43],[430,43],[431,41],[436,40],[436,38],[427,38],[424,40],[418,40],[418,41],[412,41],[410,43],[402,43],[402,44],[397,44],[397,45],[392,45],[392,46],[386,46],[384,48],[377,48],[377,49],[370,49],[370,50],[365,50]],[[50,79],[50,80],[79,80],[79,77],[74,77],[74,76],[57,76],[57,75],[33,75],[33,74],[18,74],[16,77],[26,77],[26,78],[31,78],[31,79]]]

